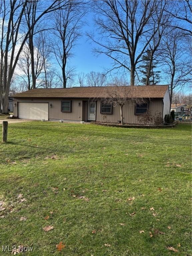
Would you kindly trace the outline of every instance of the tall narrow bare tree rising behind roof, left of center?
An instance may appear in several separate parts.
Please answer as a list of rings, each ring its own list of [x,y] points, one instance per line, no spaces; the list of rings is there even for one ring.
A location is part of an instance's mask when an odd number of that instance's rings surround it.
[[[73,48],[77,39],[81,36],[84,15],[82,2],[78,1],[71,1],[67,9],[60,9],[55,12],[52,49],[62,70],[63,88],[66,88],[68,79],[71,79],[71,70],[70,68],[67,70],[67,62],[73,55]]]

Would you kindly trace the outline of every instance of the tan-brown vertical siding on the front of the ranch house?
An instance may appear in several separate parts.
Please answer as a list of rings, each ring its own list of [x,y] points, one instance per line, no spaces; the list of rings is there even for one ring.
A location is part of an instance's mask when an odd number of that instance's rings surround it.
[[[61,101],[71,100],[71,112],[61,111]],[[49,120],[71,120],[71,121],[87,121],[88,99],[86,98],[14,98],[14,116],[18,116],[18,102],[48,102],[52,104],[52,107],[48,108]],[[169,101],[170,102],[170,101]],[[80,103],[80,105],[79,105]],[[169,104],[167,102],[164,103]],[[96,118],[99,122],[112,122],[117,123],[120,118],[119,106],[113,107],[112,114],[101,114],[101,101],[97,101],[96,104]],[[152,115],[155,112],[163,113],[163,99],[151,99],[149,101],[149,110]],[[138,115],[135,115],[135,106],[125,105],[123,106],[124,122],[129,124],[139,124]],[[149,123],[152,124],[152,123]]]

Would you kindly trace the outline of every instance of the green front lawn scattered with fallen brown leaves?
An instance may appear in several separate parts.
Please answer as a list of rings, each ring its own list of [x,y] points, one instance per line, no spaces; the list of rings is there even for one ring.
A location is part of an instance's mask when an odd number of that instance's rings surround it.
[[[33,256],[189,256],[190,172],[190,125],[9,124],[8,143],[0,142],[0,251],[24,245]]]

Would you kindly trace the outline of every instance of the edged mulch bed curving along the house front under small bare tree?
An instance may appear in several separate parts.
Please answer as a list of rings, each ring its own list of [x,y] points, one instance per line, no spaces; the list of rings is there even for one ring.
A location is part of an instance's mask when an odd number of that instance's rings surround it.
[[[177,123],[167,125],[144,125],[144,124],[118,124],[118,123],[103,123],[103,122],[91,122],[95,125],[109,126],[109,127],[121,127],[121,128],[172,128]]]

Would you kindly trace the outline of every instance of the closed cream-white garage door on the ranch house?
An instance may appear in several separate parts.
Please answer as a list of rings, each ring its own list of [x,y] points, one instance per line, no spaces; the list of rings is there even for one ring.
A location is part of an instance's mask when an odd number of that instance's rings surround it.
[[[48,120],[48,103],[19,102],[18,117],[22,119]]]

